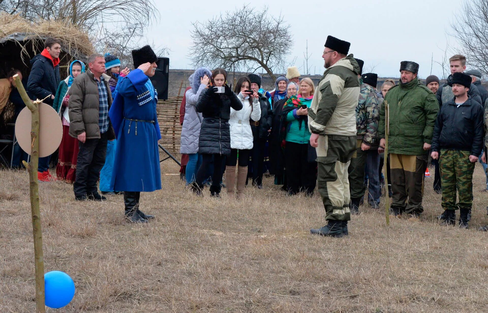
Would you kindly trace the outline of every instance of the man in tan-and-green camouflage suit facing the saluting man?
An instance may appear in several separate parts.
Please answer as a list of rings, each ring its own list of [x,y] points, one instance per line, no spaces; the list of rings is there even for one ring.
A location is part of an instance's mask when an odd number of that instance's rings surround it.
[[[326,68],[308,110],[310,145],[317,152],[317,185],[327,225],[310,233],[331,237],[348,235],[351,219],[347,168],[356,151],[356,106],[359,65],[348,54],[350,43],[332,36],[322,58]]]

